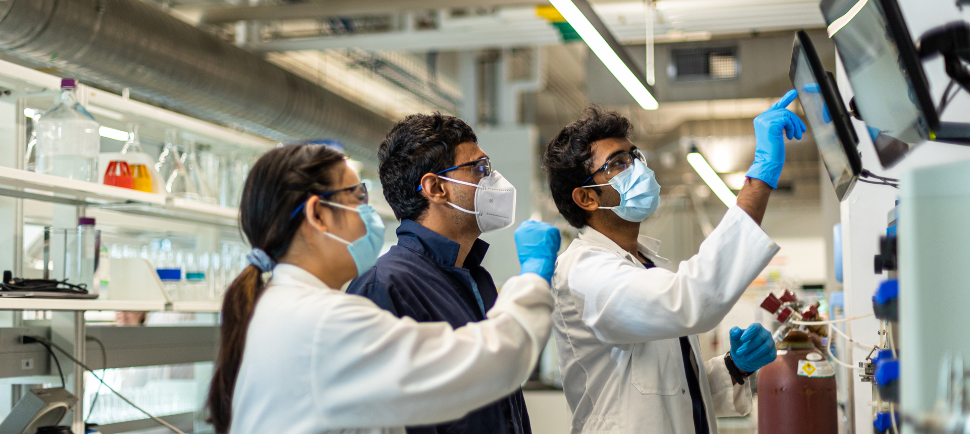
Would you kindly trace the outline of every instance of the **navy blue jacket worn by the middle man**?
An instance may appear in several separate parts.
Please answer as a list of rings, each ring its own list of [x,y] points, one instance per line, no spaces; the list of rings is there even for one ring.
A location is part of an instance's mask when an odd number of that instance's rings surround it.
[[[411,220],[398,228],[398,245],[350,283],[347,294],[370,298],[398,317],[444,321],[458,328],[485,319],[499,292],[481,266],[488,243],[475,240],[465,266],[455,266],[458,242]],[[477,294],[476,291],[477,290]],[[482,379],[482,381],[488,381]],[[469,385],[474,387],[474,385]],[[408,427],[408,434],[532,434],[522,390],[434,426]]]

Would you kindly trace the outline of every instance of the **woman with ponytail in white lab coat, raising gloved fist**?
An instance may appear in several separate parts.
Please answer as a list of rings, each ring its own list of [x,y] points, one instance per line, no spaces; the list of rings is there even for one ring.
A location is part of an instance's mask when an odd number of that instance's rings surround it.
[[[384,226],[332,148],[268,152],[240,211],[253,249],[222,305],[208,398],[216,433],[404,433],[461,418],[519,387],[549,337],[549,276],[534,272],[506,281],[488,320],[457,329],[341,293],[376,261]],[[523,229],[520,261],[551,269],[558,231]]]

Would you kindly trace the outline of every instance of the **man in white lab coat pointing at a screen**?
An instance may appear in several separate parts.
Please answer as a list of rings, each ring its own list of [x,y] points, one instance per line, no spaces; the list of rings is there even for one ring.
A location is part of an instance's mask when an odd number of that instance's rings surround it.
[[[588,109],[543,155],[560,213],[578,228],[556,263],[556,348],[572,433],[717,432],[716,417],[751,411],[745,378],[774,360],[760,325],[734,327],[731,350],[706,362],[696,334],[727,315],[777,253],[760,229],[785,160],[784,133],[805,126],[785,107],[793,91],[755,120],[755,164],[721,223],[693,258],[670,271],[660,242],[639,226],[660,185],[630,142],[630,122]]]

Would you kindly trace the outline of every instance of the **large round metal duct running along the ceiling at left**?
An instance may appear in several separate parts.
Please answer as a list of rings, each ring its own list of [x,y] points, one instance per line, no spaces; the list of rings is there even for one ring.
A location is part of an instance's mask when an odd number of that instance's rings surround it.
[[[139,0],[0,0],[0,49],[273,138],[375,160],[392,122]]]

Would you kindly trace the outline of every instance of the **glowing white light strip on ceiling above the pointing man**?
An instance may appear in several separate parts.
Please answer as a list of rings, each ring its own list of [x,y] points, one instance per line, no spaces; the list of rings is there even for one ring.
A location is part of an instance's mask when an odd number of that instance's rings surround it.
[[[623,85],[630,92],[630,96],[636,100],[636,103],[640,105],[643,109],[654,110],[660,108],[657,103],[657,99],[650,94],[647,87],[640,81],[639,78],[633,74],[630,67],[624,63],[620,55],[610,47],[609,43],[603,35],[600,35],[590,19],[583,15],[583,13],[576,7],[573,1],[586,1],[586,0],[550,0],[556,10],[559,11],[569,25],[572,26],[573,30],[583,38],[587,46],[596,53],[599,60],[606,65],[606,69],[613,76],[620,80],[620,84]],[[592,8],[590,9],[592,11]],[[595,13],[593,13],[595,14]],[[612,36],[610,36],[612,38]]]

